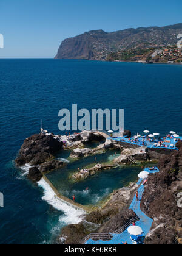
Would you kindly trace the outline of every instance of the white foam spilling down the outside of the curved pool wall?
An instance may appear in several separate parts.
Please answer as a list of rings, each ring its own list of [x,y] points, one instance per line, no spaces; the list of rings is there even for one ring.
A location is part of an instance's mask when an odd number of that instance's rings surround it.
[[[63,201],[59,200],[55,192],[44,179],[41,179],[38,182],[38,185],[44,188],[44,196],[42,197],[42,200],[47,201],[56,210],[64,213],[64,215],[59,217],[60,222],[63,222],[63,224],[77,224],[82,220],[81,215],[84,214],[84,211],[76,210],[70,205],[67,205]]]

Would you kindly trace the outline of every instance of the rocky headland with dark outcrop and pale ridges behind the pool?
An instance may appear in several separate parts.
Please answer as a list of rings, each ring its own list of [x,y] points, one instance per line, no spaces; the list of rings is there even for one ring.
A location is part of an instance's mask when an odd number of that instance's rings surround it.
[[[131,136],[130,130],[124,130],[124,135]],[[28,178],[33,181],[39,181],[43,174],[59,169],[67,163],[56,160],[56,154],[60,151],[71,149],[70,158],[83,158],[89,155],[101,154],[106,150],[120,151],[120,156],[115,158],[112,163],[99,164],[90,168],[86,172],[81,170],[73,174],[75,180],[86,179],[93,176],[98,171],[113,168],[117,165],[133,164],[137,162],[146,162],[158,160],[163,152],[148,151],[147,148],[125,148],[124,144],[114,140],[109,140],[106,133],[83,131],[72,135],[55,135],[41,130],[41,133],[32,135],[25,139],[21,146],[19,155],[15,160],[17,166],[25,164],[30,165]],[[96,148],[87,148],[87,145],[93,142],[99,142]]]

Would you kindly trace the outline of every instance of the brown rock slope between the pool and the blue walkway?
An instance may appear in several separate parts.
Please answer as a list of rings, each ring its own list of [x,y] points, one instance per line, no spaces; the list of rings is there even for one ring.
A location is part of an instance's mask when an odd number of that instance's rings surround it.
[[[130,198],[135,194],[138,185],[130,183],[110,194],[109,200],[101,209],[83,216],[79,224],[68,225],[61,230],[58,243],[84,244],[84,238],[90,233],[108,233],[123,226],[131,218],[136,217],[132,210],[127,210]],[[122,210],[123,209],[123,210]]]

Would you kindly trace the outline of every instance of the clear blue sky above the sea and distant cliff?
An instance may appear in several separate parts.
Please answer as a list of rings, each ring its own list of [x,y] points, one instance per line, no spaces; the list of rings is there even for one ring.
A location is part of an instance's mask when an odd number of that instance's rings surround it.
[[[51,58],[65,38],[181,23],[181,12],[181,0],[0,0],[0,58]]]

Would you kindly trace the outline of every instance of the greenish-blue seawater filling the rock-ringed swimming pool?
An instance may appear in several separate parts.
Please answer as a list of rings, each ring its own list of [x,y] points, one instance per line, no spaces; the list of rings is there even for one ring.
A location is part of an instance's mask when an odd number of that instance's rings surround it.
[[[111,163],[120,155],[120,152],[117,152],[117,155],[115,155],[115,152],[108,150],[78,160],[69,157],[70,151],[61,152],[58,158],[64,158],[69,163],[64,168],[47,174],[47,178],[63,196],[72,199],[72,196],[75,195],[76,202],[83,205],[101,205],[114,190],[128,185],[129,182],[135,182],[138,179],[138,173],[142,170],[141,166],[123,165],[113,167],[97,172],[94,176],[79,182],[70,177],[74,172],[77,172],[78,168],[90,168],[96,163]],[[86,190],[86,188],[89,188],[89,190]]]

